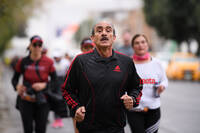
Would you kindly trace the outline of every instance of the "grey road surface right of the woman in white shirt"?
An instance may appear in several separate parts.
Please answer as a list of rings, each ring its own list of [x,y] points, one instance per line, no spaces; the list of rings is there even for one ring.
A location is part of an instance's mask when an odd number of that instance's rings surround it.
[[[170,81],[162,95],[160,133],[200,133],[200,82]]]

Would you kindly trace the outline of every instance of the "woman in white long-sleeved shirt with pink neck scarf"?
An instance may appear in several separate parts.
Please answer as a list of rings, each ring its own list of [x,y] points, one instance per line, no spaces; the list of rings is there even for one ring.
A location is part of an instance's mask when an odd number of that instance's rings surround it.
[[[136,34],[131,41],[135,51],[133,61],[143,84],[142,97],[138,107],[127,113],[132,133],[157,133],[160,123],[160,95],[168,86],[164,69],[148,52],[147,37]]]

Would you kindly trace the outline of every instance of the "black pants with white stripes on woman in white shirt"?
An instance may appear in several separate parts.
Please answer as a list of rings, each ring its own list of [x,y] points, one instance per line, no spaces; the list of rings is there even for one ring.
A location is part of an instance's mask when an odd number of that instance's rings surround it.
[[[148,112],[127,112],[132,133],[157,133],[160,116],[160,108]]]

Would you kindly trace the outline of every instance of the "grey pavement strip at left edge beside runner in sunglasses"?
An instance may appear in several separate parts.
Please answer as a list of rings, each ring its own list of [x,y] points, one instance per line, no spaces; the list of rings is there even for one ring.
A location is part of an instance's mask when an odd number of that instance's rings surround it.
[[[12,71],[0,64],[0,130],[1,133],[22,133],[19,112],[15,109],[16,92],[11,86]]]

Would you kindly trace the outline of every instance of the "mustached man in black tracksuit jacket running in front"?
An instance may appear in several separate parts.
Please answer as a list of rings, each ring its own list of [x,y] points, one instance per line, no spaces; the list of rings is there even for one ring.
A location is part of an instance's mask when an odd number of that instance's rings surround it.
[[[92,29],[95,49],[77,55],[63,97],[80,133],[124,133],[126,110],[138,106],[142,86],[132,59],[113,50],[113,25],[99,22]]]

